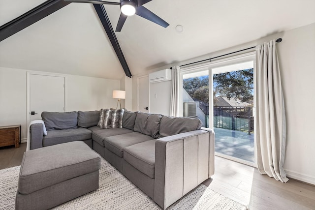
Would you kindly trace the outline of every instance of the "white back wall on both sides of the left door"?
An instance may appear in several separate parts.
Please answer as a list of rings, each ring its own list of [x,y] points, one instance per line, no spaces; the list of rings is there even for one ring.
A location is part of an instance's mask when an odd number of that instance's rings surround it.
[[[112,91],[119,80],[66,75],[66,111],[91,111],[115,107]],[[27,70],[0,67],[0,126],[21,124],[27,138]]]

